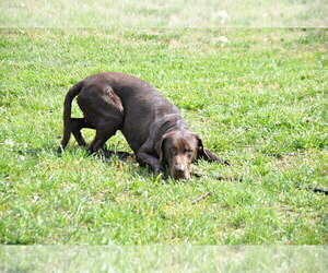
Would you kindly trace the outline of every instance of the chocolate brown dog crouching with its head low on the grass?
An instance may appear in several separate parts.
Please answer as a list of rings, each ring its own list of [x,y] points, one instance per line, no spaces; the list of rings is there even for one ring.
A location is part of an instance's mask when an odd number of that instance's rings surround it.
[[[71,104],[78,96],[83,118],[71,118]],[[90,145],[94,153],[120,130],[141,166],[155,175],[168,166],[174,179],[190,178],[190,165],[198,158],[221,161],[203,149],[200,138],[191,132],[179,109],[152,85],[117,72],[93,74],[75,84],[63,106],[63,138],[59,152],[73,133],[79,145],[85,145],[82,128],[96,130]]]

